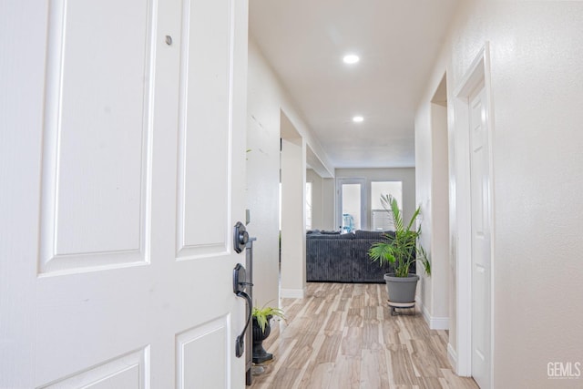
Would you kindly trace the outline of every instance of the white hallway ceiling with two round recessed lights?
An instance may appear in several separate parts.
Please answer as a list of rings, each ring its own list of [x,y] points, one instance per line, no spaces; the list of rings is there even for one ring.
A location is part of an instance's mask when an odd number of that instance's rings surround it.
[[[413,167],[414,109],[459,2],[250,0],[250,34],[334,168]]]

